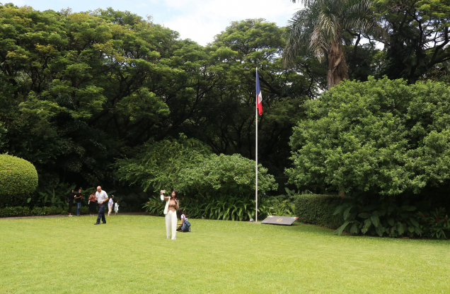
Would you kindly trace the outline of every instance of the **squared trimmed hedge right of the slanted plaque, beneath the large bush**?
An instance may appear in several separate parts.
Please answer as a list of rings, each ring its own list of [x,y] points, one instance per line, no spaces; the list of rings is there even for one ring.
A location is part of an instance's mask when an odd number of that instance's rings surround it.
[[[299,217],[301,223],[311,223],[335,230],[343,223],[342,216],[333,216],[335,208],[352,202],[353,199],[337,195],[296,195],[295,215]]]

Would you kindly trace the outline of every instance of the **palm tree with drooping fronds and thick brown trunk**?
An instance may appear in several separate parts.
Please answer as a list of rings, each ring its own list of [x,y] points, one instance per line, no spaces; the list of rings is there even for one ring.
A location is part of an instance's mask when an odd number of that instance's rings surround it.
[[[358,31],[385,37],[370,6],[373,0],[299,0],[305,8],[289,21],[284,65],[301,52],[311,52],[319,61],[328,57],[328,88],[348,78],[342,50],[342,33]],[[292,0],[296,2],[296,0]]]

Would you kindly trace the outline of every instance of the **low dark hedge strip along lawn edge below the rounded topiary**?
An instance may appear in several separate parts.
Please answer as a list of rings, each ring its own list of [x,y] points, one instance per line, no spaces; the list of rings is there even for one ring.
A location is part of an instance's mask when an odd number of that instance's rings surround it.
[[[88,214],[88,206],[81,206],[80,213]],[[56,216],[60,214],[68,214],[68,207],[35,207],[30,209],[28,207],[5,207],[0,208],[0,218],[8,218],[14,216]],[[72,207],[72,214],[76,214],[76,207]]]

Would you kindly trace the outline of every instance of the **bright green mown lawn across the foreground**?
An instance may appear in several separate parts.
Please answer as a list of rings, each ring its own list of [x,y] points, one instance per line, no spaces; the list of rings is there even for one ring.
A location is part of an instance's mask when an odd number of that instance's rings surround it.
[[[164,218],[0,220],[0,293],[450,293],[450,242]]]

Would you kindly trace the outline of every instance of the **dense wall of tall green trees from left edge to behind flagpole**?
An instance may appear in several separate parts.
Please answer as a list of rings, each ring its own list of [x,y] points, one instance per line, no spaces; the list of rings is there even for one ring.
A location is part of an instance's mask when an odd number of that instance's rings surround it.
[[[254,158],[256,66],[260,161],[282,175],[299,105],[325,87],[315,59],[282,67],[284,29],[265,20],[232,23],[206,47],[111,8],[6,4],[0,23],[0,148],[35,164],[42,187],[108,187],[116,158],[141,158],[180,132]]]

